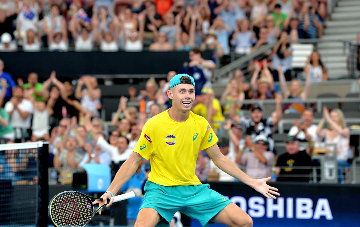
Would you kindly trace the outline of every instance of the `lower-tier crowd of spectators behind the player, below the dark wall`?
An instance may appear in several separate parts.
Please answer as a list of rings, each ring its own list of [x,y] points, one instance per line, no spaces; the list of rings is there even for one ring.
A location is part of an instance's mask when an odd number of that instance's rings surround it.
[[[298,79],[291,80],[287,87],[282,66],[278,67],[278,87],[270,71],[271,63],[263,59],[254,63],[250,83],[245,82],[241,70],[230,73],[229,84],[219,99],[215,97],[211,84],[214,62],[203,59],[198,48],[189,51],[189,58],[190,62],[184,68],[169,71],[166,80],[150,78],[141,91],[129,87],[128,96],[120,98],[118,109],[107,125],[101,118],[106,103],[102,103],[102,91],[95,77],[85,75],[77,81],[60,81],[52,71],[49,78],[40,83],[38,75],[32,72],[24,83],[23,79],[14,80],[4,72],[4,63],[0,60],[0,104],[3,106],[0,109],[0,138],[8,143],[48,141],[50,166],[62,170],[76,171],[86,163],[121,164],[130,157],[145,122],[171,107],[166,94],[171,78],[179,72],[190,72],[196,80],[192,111],[208,120],[221,138],[221,152],[250,176],[265,177],[273,173],[280,174],[279,180],[309,181],[308,171],[294,170],[294,175],[306,175],[302,177],[282,175],[291,174],[295,166],[308,166],[304,157],[310,158],[314,145],[321,141],[338,144],[338,166],[350,166],[350,131],[343,112],[326,107],[313,110],[302,101],[308,98],[310,87],[318,82],[317,75],[322,70],[317,52],[309,56],[309,64],[304,69],[304,87]],[[326,70],[321,72],[324,77]],[[274,99],[274,112],[265,115],[264,108],[258,104],[244,105],[242,101],[246,99]],[[284,103],[283,99],[297,101]],[[138,102],[140,106],[128,106],[129,102]],[[247,116],[244,115],[246,111],[249,112]],[[316,111],[323,113],[319,125],[313,124]],[[289,130],[290,137],[283,141],[287,151],[285,159],[291,159],[292,163],[283,160],[284,154],[276,156],[274,140],[278,122],[287,114],[301,114]],[[328,128],[324,128],[325,123]],[[307,142],[308,147],[300,146],[300,142]],[[299,155],[302,150],[304,153]],[[278,163],[276,157],[280,160]],[[275,166],[283,169],[275,169]],[[284,170],[284,166],[289,167]],[[200,151],[198,177],[206,180],[218,171],[207,154]],[[218,179],[234,180],[224,173],[220,173]],[[343,180],[343,173],[339,172],[339,181]]]

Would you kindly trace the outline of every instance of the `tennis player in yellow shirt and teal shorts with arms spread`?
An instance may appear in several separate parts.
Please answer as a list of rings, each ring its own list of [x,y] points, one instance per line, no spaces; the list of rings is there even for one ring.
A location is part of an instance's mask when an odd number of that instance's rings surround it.
[[[115,194],[134,175],[141,159],[150,159],[151,172],[145,184],[145,196],[135,226],[169,226],[176,211],[198,219],[202,226],[213,222],[228,226],[252,226],[252,219],[224,195],[201,184],[195,175],[199,150],[206,150],[222,171],[253,187],[267,198],[280,195],[265,179],[253,179],[221,154],[214,131],[202,116],[190,111],[195,99],[194,78],[178,74],[167,91],[172,107],[149,119],[134,152],[121,166],[104,195]],[[112,201],[107,205],[111,205]],[[101,212],[101,211],[100,211]],[[100,213],[99,212],[99,213]]]

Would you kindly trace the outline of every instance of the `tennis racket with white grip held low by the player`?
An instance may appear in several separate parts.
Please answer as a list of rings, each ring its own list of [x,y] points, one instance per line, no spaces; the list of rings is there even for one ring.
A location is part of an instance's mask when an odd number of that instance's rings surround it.
[[[55,195],[49,203],[49,219],[56,227],[82,227],[113,199],[113,202],[133,198],[134,192],[117,195],[107,199],[107,203],[94,210],[93,200],[103,200],[78,191],[64,191]]]

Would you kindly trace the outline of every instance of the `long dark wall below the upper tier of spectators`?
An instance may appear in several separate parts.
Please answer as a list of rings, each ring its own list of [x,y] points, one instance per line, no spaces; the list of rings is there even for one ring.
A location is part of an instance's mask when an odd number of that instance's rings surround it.
[[[211,52],[204,52],[211,59]],[[5,71],[15,77],[35,71],[60,77],[83,74],[167,74],[189,62],[189,52],[0,52]]]

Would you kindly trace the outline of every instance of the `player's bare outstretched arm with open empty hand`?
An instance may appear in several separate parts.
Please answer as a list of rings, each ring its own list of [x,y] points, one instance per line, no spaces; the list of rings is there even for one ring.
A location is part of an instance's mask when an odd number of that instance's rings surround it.
[[[264,179],[253,179],[249,177],[246,173],[240,170],[229,158],[226,158],[221,152],[217,144],[212,145],[206,149],[207,154],[210,156],[214,164],[220,168],[220,170],[228,173],[230,176],[233,176],[245,184],[251,186],[256,191],[263,194],[266,198],[276,199],[274,195],[280,195],[275,187],[270,187],[266,184],[266,181],[270,180],[271,177]]]

